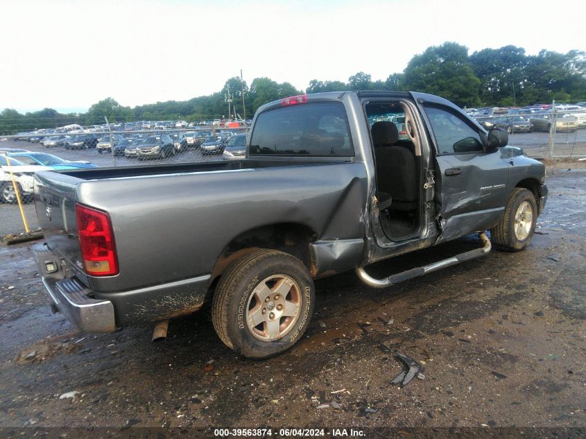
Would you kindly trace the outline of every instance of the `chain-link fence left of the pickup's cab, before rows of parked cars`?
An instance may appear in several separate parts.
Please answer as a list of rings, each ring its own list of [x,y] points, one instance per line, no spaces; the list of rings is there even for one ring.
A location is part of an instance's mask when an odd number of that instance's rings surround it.
[[[124,123],[0,136],[0,236],[38,228],[33,197],[35,171],[244,157],[248,131],[244,122],[185,125],[175,128],[156,123]]]

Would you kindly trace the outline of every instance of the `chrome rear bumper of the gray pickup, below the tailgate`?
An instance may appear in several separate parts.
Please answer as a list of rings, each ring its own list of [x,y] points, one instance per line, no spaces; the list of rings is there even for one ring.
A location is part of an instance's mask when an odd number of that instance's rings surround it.
[[[114,332],[114,305],[96,300],[77,277],[65,277],[64,261],[44,243],[33,246],[42,282],[55,306],[82,332]]]

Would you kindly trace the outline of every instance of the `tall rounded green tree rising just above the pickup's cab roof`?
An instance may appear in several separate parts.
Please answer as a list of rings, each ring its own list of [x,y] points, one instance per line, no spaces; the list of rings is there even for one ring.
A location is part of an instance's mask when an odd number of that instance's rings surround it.
[[[474,107],[481,102],[480,80],[468,60],[468,49],[455,42],[431,46],[415,55],[405,69],[408,89],[437,94],[460,105]]]

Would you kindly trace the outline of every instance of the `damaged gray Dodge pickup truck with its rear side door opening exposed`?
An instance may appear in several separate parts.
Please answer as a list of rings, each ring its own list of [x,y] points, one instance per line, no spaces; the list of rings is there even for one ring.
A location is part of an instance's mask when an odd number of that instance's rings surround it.
[[[84,332],[166,322],[212,301],[218,336],[265,358],[300,339],[313,279],[383,288],[523,250],[545,169],[456,105],[414,92],[293,96],[259,108],[243,160],[35,175],[53,302]],[[490,239],[485,234],[490,230]],[[479,233],[479,248],[376,279],[368,265]]]

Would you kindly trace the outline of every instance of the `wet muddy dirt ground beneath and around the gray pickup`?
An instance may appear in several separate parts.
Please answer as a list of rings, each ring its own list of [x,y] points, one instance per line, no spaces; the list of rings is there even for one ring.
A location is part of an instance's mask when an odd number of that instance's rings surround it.
[[[386,290],[353,273],[319,280],[307,336],[266,361],[228,350],[209,309],[172,320],[160,343],[150,343],[150,326],[80,334],[51,314],[31,244],[0,246],[0,434],[353,427],[384,437],[369,428],[516,427],[580,437],[586,170],[576,166],[549,171],[548,205],[526,251],[493,251]],[[397,273],[477,245],[463,239],[368,270]],[[401,371],[395,352],[424,368],[404,388],[390,384]]]

